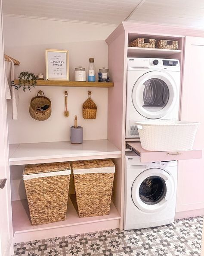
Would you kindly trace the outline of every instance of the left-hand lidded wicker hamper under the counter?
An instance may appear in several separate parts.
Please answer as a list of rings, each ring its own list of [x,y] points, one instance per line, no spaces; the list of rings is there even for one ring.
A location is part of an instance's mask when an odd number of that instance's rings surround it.
[[[25,184],[32,226],[66,218],[71,166],[68,162],[25,166]]]

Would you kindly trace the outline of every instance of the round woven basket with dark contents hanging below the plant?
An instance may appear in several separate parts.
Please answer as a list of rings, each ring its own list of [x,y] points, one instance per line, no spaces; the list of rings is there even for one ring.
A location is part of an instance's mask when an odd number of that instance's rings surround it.
[[[38,94],[43,94],[39,96]],[[38,121],[44,121],[51,115],[51,100],[45,96],[43,91],[39,91],[37,96],[31,99],[29,112],[32,118]]]

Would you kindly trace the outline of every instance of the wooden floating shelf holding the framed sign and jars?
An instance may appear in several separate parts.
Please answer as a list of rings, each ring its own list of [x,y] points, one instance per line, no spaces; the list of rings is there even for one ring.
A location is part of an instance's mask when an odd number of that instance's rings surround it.
[[[19,80],[14,80],[15,84],[19,84]],[[26,84],[28,86],[28,84]],[[77,81],[56,81],[56,80],[37,80],[37,86],[68,86],[68,87],[113,87],[113,83],[105,82],[77,82]]]

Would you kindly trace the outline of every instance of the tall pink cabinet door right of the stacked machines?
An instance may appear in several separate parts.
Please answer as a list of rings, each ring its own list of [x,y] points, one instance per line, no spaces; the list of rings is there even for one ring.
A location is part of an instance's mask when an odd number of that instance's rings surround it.
[[[195,149],[204,150],[204,38],[186,37],[182,79],[182,121],[200,122]],[[181,160],[176,212],[204,208],[204,156]]]

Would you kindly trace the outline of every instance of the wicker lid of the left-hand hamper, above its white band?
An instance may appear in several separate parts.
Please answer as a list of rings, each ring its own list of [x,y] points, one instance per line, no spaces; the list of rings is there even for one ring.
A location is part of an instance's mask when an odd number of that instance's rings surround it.
[[[27,164],[24,169],[24,175],[59,172],[64,170],[71,170],[69,162]]]

